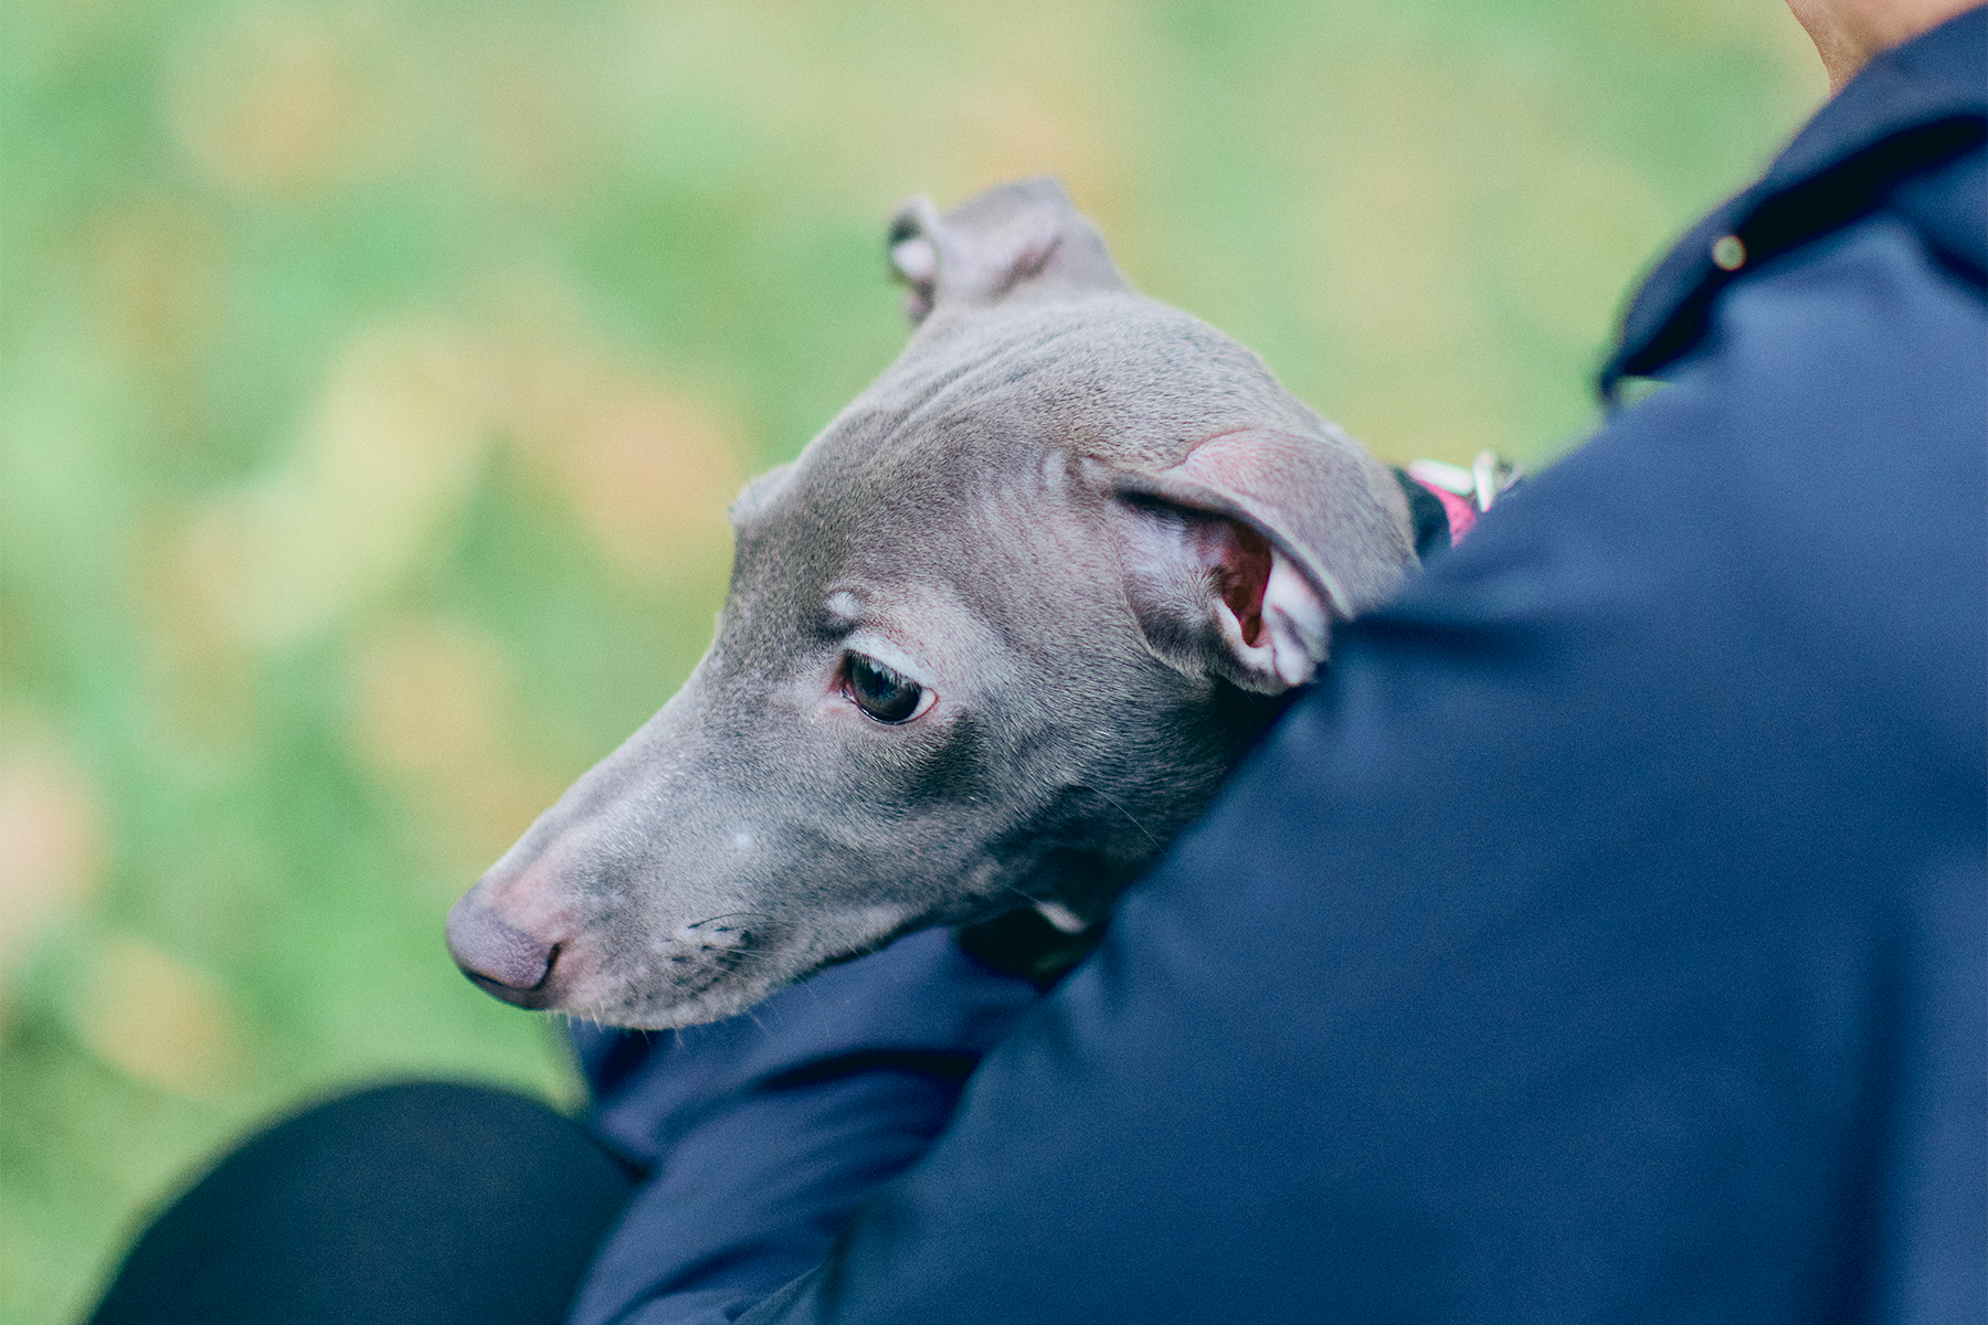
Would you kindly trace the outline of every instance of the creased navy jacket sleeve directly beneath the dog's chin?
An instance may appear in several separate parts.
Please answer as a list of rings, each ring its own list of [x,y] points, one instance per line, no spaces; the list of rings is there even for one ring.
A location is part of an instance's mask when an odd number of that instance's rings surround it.
[[[594,1128],[650,1178],[573,1325],[718,1325],[819,1261],[1036,997],[930,932],[714,1025],[575,1027]]]

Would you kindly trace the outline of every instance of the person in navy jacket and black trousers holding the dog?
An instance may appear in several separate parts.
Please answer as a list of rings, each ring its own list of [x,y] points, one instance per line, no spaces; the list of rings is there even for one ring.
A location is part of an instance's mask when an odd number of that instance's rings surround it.
[[[408,1140],[467,1095],[316,1110],[97,1319],[1982,1319],[1988,10],[1791,8],[1835,95],[1644,284],[1606,425],[1334,636],[1089,959],[1006,920],[580,1033],[592,1136],[481,1162]],[[308,1224],[318,1297],[258,1250],[298,1186],[390,1190]]]

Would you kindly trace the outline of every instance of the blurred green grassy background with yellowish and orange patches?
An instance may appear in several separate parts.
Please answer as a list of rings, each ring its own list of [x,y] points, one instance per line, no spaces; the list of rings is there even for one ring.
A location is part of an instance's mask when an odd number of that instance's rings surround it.
[[[0,1321],[310,1093],[575,1099],[443,914],[903,344],[897,199],[1054,171],[1382,455],[1541,461],[1821,97],[1773,0],[10,0]]]

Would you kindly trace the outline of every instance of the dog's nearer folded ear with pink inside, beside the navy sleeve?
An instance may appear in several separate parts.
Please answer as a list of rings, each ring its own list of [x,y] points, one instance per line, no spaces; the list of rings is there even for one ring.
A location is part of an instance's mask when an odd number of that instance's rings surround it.
[[[1406,499],[1346,437],[1221,433],[1155,473],[1091,461],[1147,646],[1274,695],[1312,679],[1332,622],[1415,566]]]

